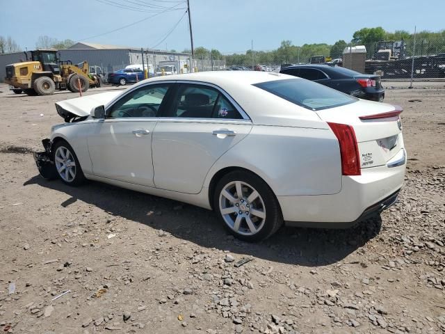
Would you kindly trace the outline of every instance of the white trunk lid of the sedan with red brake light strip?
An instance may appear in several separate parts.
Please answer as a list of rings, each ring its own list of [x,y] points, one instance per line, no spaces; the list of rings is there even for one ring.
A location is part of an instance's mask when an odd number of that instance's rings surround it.
[[[398,113],[394,112],[397,110],[398,107],[391,104],[359,100],[316,113],[326,122],[354,128],[360,166],[370,168],[385,166],[404,148],[402,123]]]

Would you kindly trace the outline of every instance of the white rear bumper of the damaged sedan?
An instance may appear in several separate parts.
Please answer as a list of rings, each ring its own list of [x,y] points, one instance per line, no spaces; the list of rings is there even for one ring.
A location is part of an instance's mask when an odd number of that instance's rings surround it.
[[[405,164],[362,169],[362,175],[343,176],[334,195],[278,196],[286,225],[346,228],[369,214],[394,204],[405,179]]]

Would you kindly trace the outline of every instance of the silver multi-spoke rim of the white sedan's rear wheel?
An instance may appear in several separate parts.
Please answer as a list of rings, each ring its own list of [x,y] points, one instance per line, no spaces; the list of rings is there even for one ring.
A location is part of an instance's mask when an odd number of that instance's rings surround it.
[[[225,223],[238,234],[253,235],[264,226],[264,200],[246,182],[233,181],[226,184],[220,193],[219,205]]]

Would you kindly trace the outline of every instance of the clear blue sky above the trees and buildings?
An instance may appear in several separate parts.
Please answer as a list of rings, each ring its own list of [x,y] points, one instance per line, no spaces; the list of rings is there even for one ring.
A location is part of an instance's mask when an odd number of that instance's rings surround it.
[[[162,13],[143,22],[106,33],[156,13],[117,8],[152,6],[184,8],[179,0],[0,0],[0,35],[10,35],[22,47],[33,49],[39,35],[59,40],[97,42],[156,49],[190,48],[185,10]],[[190,0],[195,47],[223,53],[250,49],[275,49],[282,40],[294,45],[348,42],[354,31],[382,26],[387,31],[445,29],[445,0]],[[428,3],[428,6],[426,5]],[[159,7],[157,7],[159,10]],[[77,17],[70,17],[77,13]],[[172,33],[165,35],[177,24]],[[166,45],[165,45],[166,43]]]

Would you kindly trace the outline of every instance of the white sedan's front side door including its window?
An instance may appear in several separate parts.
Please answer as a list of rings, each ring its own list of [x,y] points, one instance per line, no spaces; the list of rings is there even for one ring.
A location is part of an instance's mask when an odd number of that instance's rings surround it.
[[[132,90],[92,125],[88,150],[94,175],[154,186],[152,136],[169,84]]]

